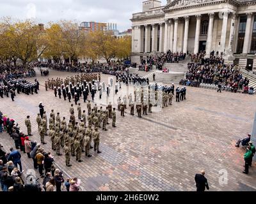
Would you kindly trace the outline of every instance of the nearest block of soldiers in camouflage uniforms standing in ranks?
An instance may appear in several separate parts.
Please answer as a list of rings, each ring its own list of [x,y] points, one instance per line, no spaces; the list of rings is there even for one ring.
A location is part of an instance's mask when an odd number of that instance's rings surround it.
[[[40,113],[38,113],[36,122],[38,124],[41,142],[46,144],[44,139],[45,136],[48,136],[48,131],[51,140],[51,149],[56,151],[58,156],[62,156],[61,152],[63,152],[66,165],[72,166],[70,164],[70,158],[72,156],[76,157],[77,162],[83,162],[81,159],[82,153],[86,157],[92,157],[90,149],[93,149],[97,154],[101,153],[99,149],[99,128],[102,128],[102,131],[108,131],[109,119],[112,119],[112,126],[116,127],[116,112],[115,108],[112,108],[111,105],[107,106],[105,110],[102,106],[98,107],[96,104],[92,107],[90,101],[87,103],[87,113],[86,110],[82,112],[80,103],[76,107],[76,116],[73,104],[70,105],[69,112],[70,119],[66,120],[65,117],[61,119],[60,113],[55,113],[54,110],[51,110],[49,126],[47,126],[45,112],[42,118]],[[28,133],[31,134],[31,124],[30,121],[28,122],[28,119],[25,120],[25,123]]]

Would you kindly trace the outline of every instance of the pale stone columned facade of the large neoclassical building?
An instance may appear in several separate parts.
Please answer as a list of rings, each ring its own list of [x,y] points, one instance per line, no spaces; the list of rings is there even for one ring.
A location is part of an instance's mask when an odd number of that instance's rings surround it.
[[[236,58],[255,58],[256,1],[174,0],[132,14],[132,55],[212,50]],[[234,55],[233,55],[234,54]],[[234,59],[233,59],[234,60]]]

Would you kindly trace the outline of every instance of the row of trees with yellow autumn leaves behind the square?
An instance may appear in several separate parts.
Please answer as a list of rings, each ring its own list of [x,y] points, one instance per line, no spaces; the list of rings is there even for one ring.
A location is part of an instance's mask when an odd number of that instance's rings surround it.
[[[108,32],[84,33],[74,22],[49,23],[45,29],[31,20],[12,22],[4,18],[0,22],[0,58],[13,62],[17,59],[24,66],[39,57],[72,62],[77,57],[96,61],[100,57],[109,63],[111,59],[125,59],[131,52],[131,37],[116,39]]]

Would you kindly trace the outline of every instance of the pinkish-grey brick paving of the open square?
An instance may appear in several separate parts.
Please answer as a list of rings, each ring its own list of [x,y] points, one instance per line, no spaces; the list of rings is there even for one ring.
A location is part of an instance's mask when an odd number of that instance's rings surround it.
[[[51,71],[49,78],[75,74]],[[55,98],[53,91],[46,92],[42,85],[47,77],[39,76],[38,73],[40,94],[20,94],[14,102],[4,98],[0,103],[0,110],[16,119],[24,132],[24,119],[31,116],[31,139],[38,142],[38,103],[43,102],[47,119],[51,109],[69,119],[70,107],[68,101]],[[101,78],[108,82],[109,77]],[[123,86],[118,94],[124,96],[127,89]],[[95,102],[106,105],[111,98],[116,102],[111,92],[109,100],[105,94],[99,100],[97,92]],[[86,110],[86,104],[81,104],[82,110]],[[244,175],[244,149],[234,147],[240,136],[251,132],[255,107],[255,96],[188,87],[186,101],[173,102],[172,106],[143,115],[142,119],[129,115],[129,108],[125,117],[117,112],[117,128],[108,126],[108,131],[100,132],[101,154],[91,151],[91,158],[83,154],[83,163],[72,157],[70,168],[65,166],[64,156],[56,156],[55,152],[52,155],[61,170],[81,179],[84,191],[195,191],[194,176],[202,169],[211,191],[255,191],[256,165],[253,163],[250,174]],[[49,136],[45,140],[45,150],[51,150]],[[14,145],[5,133],[0,141],[5,149]],[[33,168],[32,161],[23,153],[22,164],[25,170]],[[219,183],[220,170],[227,171],[227,184]]]

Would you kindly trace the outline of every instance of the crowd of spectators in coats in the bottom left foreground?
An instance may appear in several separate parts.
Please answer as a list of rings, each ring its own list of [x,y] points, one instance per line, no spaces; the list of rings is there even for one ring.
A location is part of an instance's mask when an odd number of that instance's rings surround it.
[[[0,112],[0,133],[6,132],[13,139],[10,152],[6,153],[0,144],[0,182],[2,191],[61,191],[65,186],[67,191],[79,191],[80,180],[64,179],[63,172],[55,167],[51,152],[40,147],[40,143],[30,140],[28,135],[20,131],[14,119]],[[36,175],[24,175],[22,170],[22,152],[26,154],[33,166],[38,169],[44,180],[36,179]],[[44,173],[43,173],[44,171]],[[29,171],[28,171],[29,172]],[[63,185],[64,184],[64,185]]]

